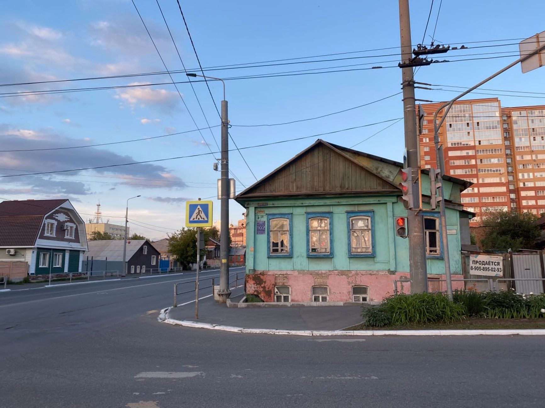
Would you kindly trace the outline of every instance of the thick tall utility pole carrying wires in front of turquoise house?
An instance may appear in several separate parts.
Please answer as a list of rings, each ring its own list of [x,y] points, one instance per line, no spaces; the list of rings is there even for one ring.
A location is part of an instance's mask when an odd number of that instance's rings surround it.
[[[401,61],[408,63],[413,53],[410,36],[409,0],[399,0],[399,34],[401,35]],[[405,147],[407,148],[407,167],[413,169],[416,180],[413,191],[419,191],[420,152],[416,132],[416,110],[414,96],[413,67],[401,69],[403,89],[403,118],[405,128]],[[419,194],[419,201],[421,197]],[[411,293],[427,292],[426,244],[423,217],[416,210],[407,210],[407,236],[409,238],[409,270]]]

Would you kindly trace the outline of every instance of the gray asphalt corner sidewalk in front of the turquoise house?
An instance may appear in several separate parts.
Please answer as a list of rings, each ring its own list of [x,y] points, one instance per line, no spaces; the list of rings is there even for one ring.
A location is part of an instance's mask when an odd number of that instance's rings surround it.
[[[232,301],[242,299],[243,288],[231,290]],[[340,330],[361,323],[360,313],[360,306],[228,308],[210,296],[199,300],[198,320],[195,319],[195,302],[171,308],[168,318],[246,329]]]

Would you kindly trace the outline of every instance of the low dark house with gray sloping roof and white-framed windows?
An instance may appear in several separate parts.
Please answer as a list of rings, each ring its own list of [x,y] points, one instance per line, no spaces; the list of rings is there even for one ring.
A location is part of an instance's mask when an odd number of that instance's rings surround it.
[[[161,254],[147,239],[130,239],[126,248],[126,269],[123,265],[123,244],[120,239],[89,241],[89,250],[83,254],[86,271],[116,272],[125,275],[157,272]]]

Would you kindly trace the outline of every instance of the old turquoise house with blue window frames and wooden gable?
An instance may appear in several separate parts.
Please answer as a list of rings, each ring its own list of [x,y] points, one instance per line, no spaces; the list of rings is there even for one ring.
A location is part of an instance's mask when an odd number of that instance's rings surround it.
[[[402,167],[319,139],[237,195],[247,212],[246,293],[267,302],[380,301],[391,295],[395,281],[410,279],[408,239],[396,232],[396,222],[407,217],[399,202]],[[470,185],[443,180],[453,275],[462,274],[461,245],[470,243],[472,213],[460,200]],[[422,191],[429,192],[427,171]],[[429,208],[429,195],[423,201]],[[439,212],[421,214],[428,278],[441,280]]]

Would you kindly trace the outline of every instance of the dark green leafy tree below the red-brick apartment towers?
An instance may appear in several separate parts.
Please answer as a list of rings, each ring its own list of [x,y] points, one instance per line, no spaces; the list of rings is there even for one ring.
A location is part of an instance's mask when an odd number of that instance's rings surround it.
[[[490,212],[484,216],[483,226],[488,233],[481,240],[484,250],[506,252],[508,249],[534,248],[540,237],[540,228],[535,224],[536,215],[518,212]]]

